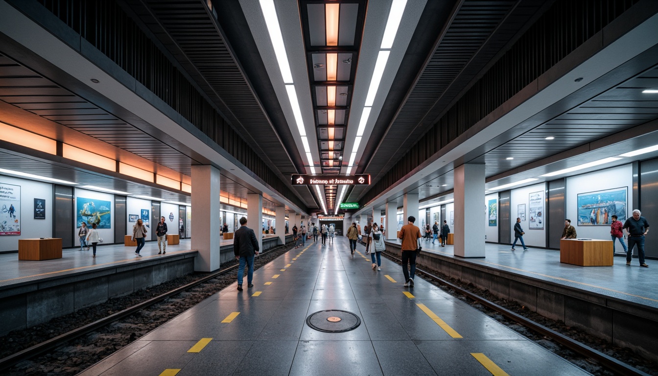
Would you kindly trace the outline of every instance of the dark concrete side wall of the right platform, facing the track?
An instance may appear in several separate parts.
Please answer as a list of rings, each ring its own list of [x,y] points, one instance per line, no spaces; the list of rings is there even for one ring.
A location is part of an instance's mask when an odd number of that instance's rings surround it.
[[[399,244],[387,242],[386,251],[401,254]],[[658,362],[656,308],[428,252],[417,257],[416,265],[472,283],[499,298],[514,300],[544,317],[563,321]]]

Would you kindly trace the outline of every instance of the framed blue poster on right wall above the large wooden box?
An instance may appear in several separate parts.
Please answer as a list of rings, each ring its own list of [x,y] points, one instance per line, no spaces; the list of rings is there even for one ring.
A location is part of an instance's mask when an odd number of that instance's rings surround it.
[[[578,194],[578,226],[609,226],[613,215],[626,221],[628,187]]]

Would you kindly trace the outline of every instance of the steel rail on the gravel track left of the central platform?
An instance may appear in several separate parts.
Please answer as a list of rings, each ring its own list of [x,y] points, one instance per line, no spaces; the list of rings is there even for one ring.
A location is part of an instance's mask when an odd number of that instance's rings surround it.
[[[269,254],[270,252],[274,252],[276,250],[280,250],[282,247],[288,246],[289,244],[285,244],[283,246],[277,246],[272,248],[271,250],[268,250],[267,252],[263,252],[260,255],[257,255],[256,257],[262,257],[263,255]],[[73,329],[72,331],[68,331],[62,335],[55,336],[53,338],[50,338],[49,340],[45,340],[43,342],[40,342],[38,344],[35,344],[34,346],[30,346],[24,350],[20,350],[19,352],[16,352],[10,356],[7,356],[5,358],[0,359],[0,371],[4,371],[5,369],[12,367],[13,365],[16,365],[17,363],[23,362],[24,360],[28,360],[30,358],[34,358],[35,356],[38,356],[40,354],[43,354],[44,352],[47,352],[48,350],[51,350],[53,348],[56,348],[57,346],[60,346],[61,344],[64,344],[65,342],[68,342],[70,340],[74,340],[76,338],[79,338],[80,336],[84,336],[88,333],[91,333],[97,329],[100,329],[101,327],[105,327],[106,325],[109,325],[113,323],[114,321],[120,320],[124,317],[130,316],[138,311],[141,311],[141,309],[147,308],[149,306],[153,306],[153,304],[162,302],[163,300],[170,298],[176,294],[180,294],[181,292],[184,292],[185,290],[188,290],[194,286],[197,286],[199,284],[202,284],[203,282],[207,282],[215,277],[218,277],[222,274],[228,273],[229,271],[232,271],[233,269],[236,269],[239,265],[232,265],[230,267],[227,267],[225,269],[219,270],[219,271],[214,271],[211,274],[198,279],[197,281],[190,282],[184,286],[180,286],[178,288],[174,288],[174,290],[170,290],[168,292],[165,292],[164,294],[161,294],[159,296],[155,296],[153,298],[150,298],[148,300],[145,300],[141,303],[138,303],[134,306],[128,307],[126,309],[122,309],[121,311],[118,311],[116,313],[113,313],[107,317],[103,317],[102,319],[98,319],[96,321],[93,321],[92,323],[88,323],[86,325],[83,325],[82,327]]]

